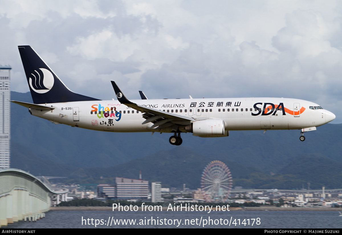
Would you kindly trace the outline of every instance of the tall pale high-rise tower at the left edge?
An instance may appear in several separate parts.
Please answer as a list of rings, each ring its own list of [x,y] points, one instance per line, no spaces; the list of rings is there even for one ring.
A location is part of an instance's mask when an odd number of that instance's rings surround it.
[[[0,168],[10,168],[11,66],[0,66]]]

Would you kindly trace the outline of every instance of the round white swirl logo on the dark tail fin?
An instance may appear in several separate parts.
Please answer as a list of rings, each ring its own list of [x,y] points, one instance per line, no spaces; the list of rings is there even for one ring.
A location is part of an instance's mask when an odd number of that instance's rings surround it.
[[[40,71],[39,71],[40,70]],[[48,92],[55,82],[52,73],[47,69],[38,69],[31,73],[29,84],[32,90],[37,93],[43,94]]]

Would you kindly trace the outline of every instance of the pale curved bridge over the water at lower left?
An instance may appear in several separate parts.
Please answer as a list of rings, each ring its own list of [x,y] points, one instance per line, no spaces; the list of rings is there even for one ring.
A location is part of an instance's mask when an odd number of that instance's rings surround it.
[[[18,169],[0,169],[0,227],[44,213],[66,201],[68,190],[53,191],[37,177]]]

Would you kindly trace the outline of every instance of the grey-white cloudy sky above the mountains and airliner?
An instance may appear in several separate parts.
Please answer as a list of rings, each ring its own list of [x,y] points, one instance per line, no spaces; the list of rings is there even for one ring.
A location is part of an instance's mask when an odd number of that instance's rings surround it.
[[[342,123],[341,1],[0,0],[0,32],[13,91],[30,45],[82,95],[298,98]]]

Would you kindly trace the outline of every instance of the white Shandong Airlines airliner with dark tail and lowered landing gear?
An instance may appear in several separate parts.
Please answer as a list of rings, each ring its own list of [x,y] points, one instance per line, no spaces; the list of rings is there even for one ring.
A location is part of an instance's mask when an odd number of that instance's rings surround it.
[[[290,130],[304,133],[335,119],[316,103],[290,98],[203,98],[129,100],[111,81],[117,100],[100,100],[69,90],[30,46],[18,46],[33,103],[11,101],[55,124],[104,132],[183,133],[225,137],[229,131]]]

